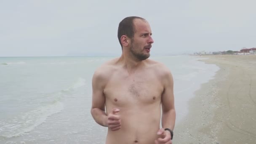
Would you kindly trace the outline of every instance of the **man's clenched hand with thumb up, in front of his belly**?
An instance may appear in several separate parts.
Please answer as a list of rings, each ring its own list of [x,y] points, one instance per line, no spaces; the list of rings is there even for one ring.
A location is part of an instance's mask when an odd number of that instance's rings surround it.
[[[114,108],[112,109],[112,112],[107,117],[107,125],[108,125],[108,128],[111,129],[111,131],[117,131],[121,128],[120,115],[116,115],[116,113],[119,111],[120,109]]]

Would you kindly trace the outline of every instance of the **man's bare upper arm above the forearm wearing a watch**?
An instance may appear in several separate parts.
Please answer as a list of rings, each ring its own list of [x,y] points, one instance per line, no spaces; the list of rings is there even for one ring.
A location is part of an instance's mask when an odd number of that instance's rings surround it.
[[[173,77],[167,68],[163,72],[164,91],[162,94],[162,108],[163,111],[168,111],[174,109]]]

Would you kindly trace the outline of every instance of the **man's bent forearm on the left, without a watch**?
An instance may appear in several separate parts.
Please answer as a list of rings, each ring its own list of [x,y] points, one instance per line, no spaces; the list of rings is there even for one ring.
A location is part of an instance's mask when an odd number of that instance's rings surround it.
[[[107,127],[107,115],[105,111],[99,108],[92,108],[91,115],[93,116],[93,119],[96,121],[96,123]]]

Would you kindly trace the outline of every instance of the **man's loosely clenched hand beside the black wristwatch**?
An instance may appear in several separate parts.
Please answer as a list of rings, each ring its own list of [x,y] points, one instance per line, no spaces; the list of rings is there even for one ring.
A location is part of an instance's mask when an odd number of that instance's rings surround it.
[[[155,144],[172,144],[171,141],[171,133],[169,131],[165,131],[164,128],[161,128],[157,131],[157,135],[159,138],[155,140]]]

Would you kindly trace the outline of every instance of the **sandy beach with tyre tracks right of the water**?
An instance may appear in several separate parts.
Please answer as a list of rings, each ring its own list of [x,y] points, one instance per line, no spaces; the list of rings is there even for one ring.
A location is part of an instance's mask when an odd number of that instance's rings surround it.
[[[189,100],[174,144],[256,144],[256,55],[208,55],[220,69]]]

